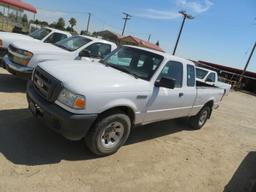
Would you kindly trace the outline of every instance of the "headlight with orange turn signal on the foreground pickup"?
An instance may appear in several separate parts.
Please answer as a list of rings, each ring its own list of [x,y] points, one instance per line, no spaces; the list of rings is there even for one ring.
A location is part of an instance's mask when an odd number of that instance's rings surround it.
[[[67,89],[60,92],[58,101],[73,109],[84,109],[86,105],[84,96],[72,93]]]

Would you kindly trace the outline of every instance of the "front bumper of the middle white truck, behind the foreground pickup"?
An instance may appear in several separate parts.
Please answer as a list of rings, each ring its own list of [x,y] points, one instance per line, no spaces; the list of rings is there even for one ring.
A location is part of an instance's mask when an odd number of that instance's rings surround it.
[[[21,78],[29,79],[33,72],[32,67],[27,67],[11,62],[7,55],[3,58],[3,66],[8,72]]]

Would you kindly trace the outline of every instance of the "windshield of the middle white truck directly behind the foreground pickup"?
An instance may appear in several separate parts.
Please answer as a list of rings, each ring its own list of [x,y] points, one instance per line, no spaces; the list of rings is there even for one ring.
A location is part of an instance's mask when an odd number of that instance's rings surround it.
[[[74,36],[74,37],[70,37],[62,41],[59,41],[55,43],[55,45],[63,49],[66,49],[68,51],[75,51],[80,47],[84,46],[85,44],[89,43],[90,41],[92,40],[86,37]]]

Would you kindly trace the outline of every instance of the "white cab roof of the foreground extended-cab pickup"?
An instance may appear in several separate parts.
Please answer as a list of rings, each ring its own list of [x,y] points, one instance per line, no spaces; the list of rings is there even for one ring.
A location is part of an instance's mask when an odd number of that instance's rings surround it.
[[[190,61],[188,59],[184,59],[184,58],[181,58],[181,57],[173,56],[171,54],[163,53],[161,51],[156,51],[156,50],[152,50],[152,49],[149,49],[149,48],[138,47],[138,46],[134,46],[134,45],[124,45],[124,46],[125,47],[132,47],[132,48],[136,48],[136,49],[141,49],[141,50],[148,51],[148,52],[151,52],[151,53],[155,53],[155,54],[163,56],[167,60],[175,60],[175,61],[180,61],[182,63],[186,63],[186,64],[190,64],[190,65],[195,65],[194,62],[192,62],[192,61]]]

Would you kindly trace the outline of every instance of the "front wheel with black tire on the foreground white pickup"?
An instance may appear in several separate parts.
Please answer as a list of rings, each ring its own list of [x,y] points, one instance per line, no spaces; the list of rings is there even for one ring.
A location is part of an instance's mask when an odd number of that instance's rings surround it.
[[[118,126],[120,128],[118,128]],[[90,151],[96,155],[112,155],[125,144],[130,135],[130,131],[131,120],[129,116],[119,111],[111,112],[104,114],[96,121],[88,132],[85,143]],[[110,139],[110,137],[112,138]],[[119,139],[115,137],[119,137]]]

